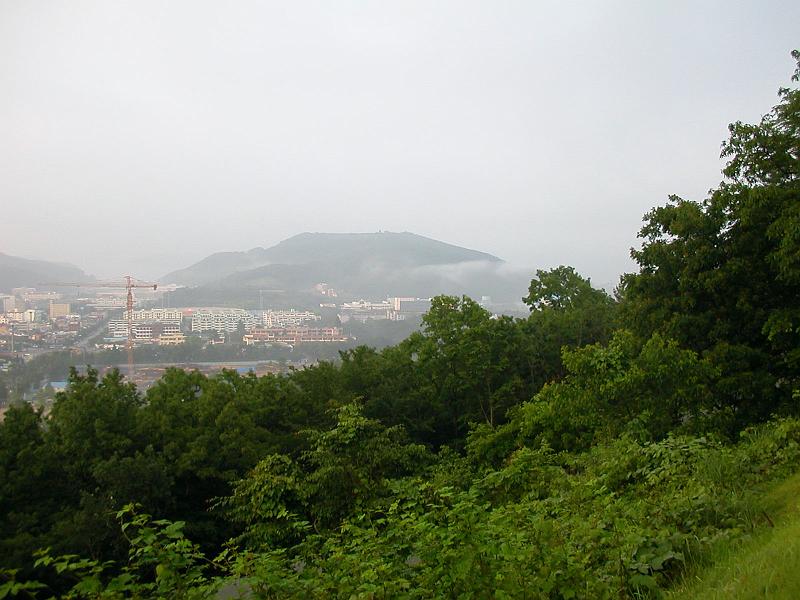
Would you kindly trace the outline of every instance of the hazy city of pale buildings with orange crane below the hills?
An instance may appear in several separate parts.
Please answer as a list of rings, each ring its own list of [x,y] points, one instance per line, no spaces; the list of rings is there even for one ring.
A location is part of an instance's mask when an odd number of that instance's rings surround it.
[[[348,331],[353,325],[419,319],[430,307],[430,299],[414,297],[340,302],[336,292],[324,283],[315,287],[322,300],[317,310],[165,306],[169,292],[175,289],[137,290],[130,310],[122,286],[108,290],[86,284],[77,293],[21,287],[0,294],[0,372],[7,373],[14,365],[36,358],[41,360],[47,353],[69,352],[80,357],[77,363],[97,365],[102,372],[119,368],[143,387],[157,380],[169,366],[206,373],[230,368],[262,375],[315,362],[313,352],[293,354],[299,346],[328,345],[334,350],[356,340]],[[135,370],[130,369],[123,352],[129,347],[137,356],[153,358],[137,360]],[[182,347],[219,359],[183,360]],[[171,353],[167,353],[170,348]],[[288,359],[266,358],[259,349],[283,350]],[[117,364],[104,364],[109,361],[103,357],[115,356]],[[63,376],[59,376],[42,381],[41,389],[52,395],[65,385]]]

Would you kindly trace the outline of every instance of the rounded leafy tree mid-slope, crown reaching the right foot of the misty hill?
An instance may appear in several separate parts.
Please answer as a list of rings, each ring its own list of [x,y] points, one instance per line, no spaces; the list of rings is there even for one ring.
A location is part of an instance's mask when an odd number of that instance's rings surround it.
[[[394,347],[342,353],[342,385],[365,414],[432,446],[460,445],[471,423],[501,423],[530,397],[519,323],[464,296],[437,296],[416,332]]]

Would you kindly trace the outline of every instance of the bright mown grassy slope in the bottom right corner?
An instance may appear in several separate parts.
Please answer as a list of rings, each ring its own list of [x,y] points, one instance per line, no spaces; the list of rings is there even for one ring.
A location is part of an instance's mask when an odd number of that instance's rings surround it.
[[[687,577],[669,598],[800,598],[800,473],[772,489],[764,508],[774,527],[721,548],[712,566]]]

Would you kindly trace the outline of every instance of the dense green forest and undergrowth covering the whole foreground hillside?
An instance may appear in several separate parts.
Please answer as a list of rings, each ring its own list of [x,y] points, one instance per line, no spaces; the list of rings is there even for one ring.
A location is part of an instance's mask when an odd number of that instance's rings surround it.
[[[527,318],[440,296],[288,375],[90,370],[11,407],[0,597],[666,593],[800,466],[800,91],[722,154],[613,297],[559,267]]]

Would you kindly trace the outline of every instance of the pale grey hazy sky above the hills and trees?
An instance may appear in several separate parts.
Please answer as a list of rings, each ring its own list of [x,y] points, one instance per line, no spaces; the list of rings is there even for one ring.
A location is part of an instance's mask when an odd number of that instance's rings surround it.
[[[596,282],[776,103],[800,2],[0,0],[0,251],[413,231]]]

